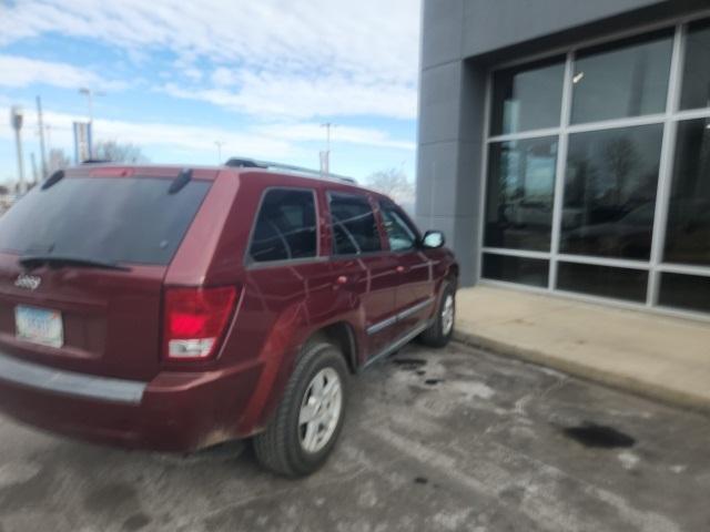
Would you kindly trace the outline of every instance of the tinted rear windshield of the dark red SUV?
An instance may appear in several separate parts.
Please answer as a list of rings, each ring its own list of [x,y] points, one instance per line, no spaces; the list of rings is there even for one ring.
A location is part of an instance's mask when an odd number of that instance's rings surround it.
[[[67,177],[34,187],[0,218],[0,250],[112,263],[170,263],[211,183]]]

